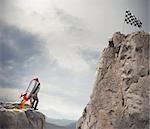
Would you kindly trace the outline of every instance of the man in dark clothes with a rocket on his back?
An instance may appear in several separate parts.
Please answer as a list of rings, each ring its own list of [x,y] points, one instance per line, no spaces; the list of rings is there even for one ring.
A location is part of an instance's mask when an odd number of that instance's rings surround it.
[[[40,82],[38,80],[38,78],[35,78],[34,79],[36,81],[35,83],[35,86],[31,92],[31,108],[33,108],[34,110],[38,110],[37,109],[37,106],[38,106],[38,103],[39,103],[39,98],[38,98],[38,93],[39,93],[39,90],[40,90]]]

